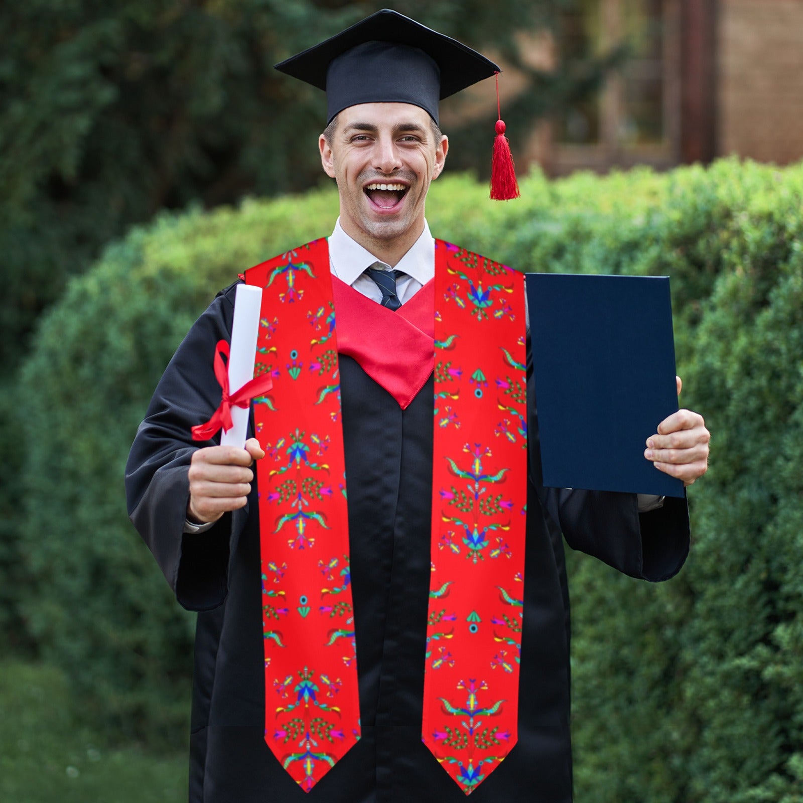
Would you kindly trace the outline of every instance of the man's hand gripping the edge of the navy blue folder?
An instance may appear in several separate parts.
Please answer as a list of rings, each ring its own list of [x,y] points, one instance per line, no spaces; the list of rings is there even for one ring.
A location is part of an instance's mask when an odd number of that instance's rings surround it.
[[[680,377],[678,395],[683,387]],[[658,432],[647,438],[644,456],[660,471],[691,485],[708,470],[708,442],[711,433],[703,416],[691,410],[678,410],[658,424]]]

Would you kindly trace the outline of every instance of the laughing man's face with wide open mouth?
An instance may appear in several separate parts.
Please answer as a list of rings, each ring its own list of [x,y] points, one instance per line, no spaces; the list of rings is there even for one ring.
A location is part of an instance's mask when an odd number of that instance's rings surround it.
[[[446,137],[436,138],[430,116],[404,103],[350,106],[338,115],[331,144],[321,135],[319,145],[324,170],[337,181],[346,234],[363,245],[412,245],[449,147]]]

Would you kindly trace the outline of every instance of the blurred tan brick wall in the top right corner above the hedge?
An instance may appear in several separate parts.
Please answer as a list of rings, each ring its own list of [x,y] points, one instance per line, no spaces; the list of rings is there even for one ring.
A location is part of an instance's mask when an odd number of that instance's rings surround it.
[[[717,150],[803,159],[803,0],[719,0]]]

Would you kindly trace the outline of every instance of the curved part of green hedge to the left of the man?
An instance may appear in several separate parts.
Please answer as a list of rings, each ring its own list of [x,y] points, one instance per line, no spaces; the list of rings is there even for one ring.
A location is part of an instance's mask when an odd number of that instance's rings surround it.
[[[22,373],[22,612],[43,658],[116,732],[181,743],[189,715],[194,617],[125,511],[125,460],[145,406],[214,291],[277,239],[312,238],[335,211],[336,197],[318,193],[165,215],[109,247],[39,329]]]

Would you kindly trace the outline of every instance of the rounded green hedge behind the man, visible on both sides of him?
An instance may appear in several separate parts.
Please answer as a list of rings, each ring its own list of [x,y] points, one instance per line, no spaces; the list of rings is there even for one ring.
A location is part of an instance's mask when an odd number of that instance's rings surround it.
[[[570,556],[580,803],[803,800],[803,166],[430,191],[430,226],[516,267],[672,277],[683,402],[713,432],[694,544],[650,586]],[[328,233],[332,191],[165,216],[71,284],[27,361],[31,637],[117,728],[181,740],[190,620],[124,512],[128,446],[218,287]]]

